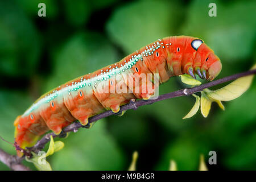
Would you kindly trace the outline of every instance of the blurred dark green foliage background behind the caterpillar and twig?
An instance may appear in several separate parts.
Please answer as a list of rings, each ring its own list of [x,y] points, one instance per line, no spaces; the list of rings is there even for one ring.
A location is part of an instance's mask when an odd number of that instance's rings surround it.
[[[46,3],[39,17],[38,3]],[[13,142],[13,122],[44,92],[112,64],[164,36],[203,39],[222,60],[218,77],[246,71],[256,62],[255,1],[0,1],[0,135]],[[179,78],[160,86],[160,94],[183,88]],[[127,169],[133,151],[137,169],[197,170],[200,154],[217,152],[214,169],[256,169],[256,81],[240,98],[213,104],[183,120],[195,98],[180,97],[129,110],[96,122],[67,139],[49,157],[53,169]],[[11,144],[0,148],[15,154]],[[30,166],[25,162],[26,165]],[[8,168],[0,163],[0,169]]]

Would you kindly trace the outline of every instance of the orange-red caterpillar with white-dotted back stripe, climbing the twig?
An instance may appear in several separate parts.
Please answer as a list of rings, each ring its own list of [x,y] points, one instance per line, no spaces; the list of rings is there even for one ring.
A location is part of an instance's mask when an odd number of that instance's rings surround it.
[[[159,84],[172,76],[195,74],[205,80],[213,80],[221,71],[220,59],[203,40],[191,36],[170,36],[158,39],[126,56],[118,63],[108,65],[93,73],[81,76],[41,96],[15,121],[15,142],[22,148],[32,146],[49,130],[60,134],[63,127],[78,120],[88,125],[88,118],[112,110],[118,113],[121,105],[131,99],[150,98],[156,86],[147,89],[155,81],[146,76],[136,86],[129,84],[139,80],[142,74],[158,74]],[[127,92],[102,93],[98,85],[112,89],[122,85]],[[138,89],[139,92],[135,92]],[[17,151],[18,156],[22,152]]]

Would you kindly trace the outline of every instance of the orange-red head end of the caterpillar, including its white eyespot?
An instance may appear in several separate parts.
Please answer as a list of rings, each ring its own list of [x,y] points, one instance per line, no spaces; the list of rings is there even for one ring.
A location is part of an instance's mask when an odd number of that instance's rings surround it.
[[[221,72],[222,64],[218,56],[202,40],[196,39],[191,43],[196,50],[195,63],[201,65],[201,71],[205,72],[204,77],[212,81]]]

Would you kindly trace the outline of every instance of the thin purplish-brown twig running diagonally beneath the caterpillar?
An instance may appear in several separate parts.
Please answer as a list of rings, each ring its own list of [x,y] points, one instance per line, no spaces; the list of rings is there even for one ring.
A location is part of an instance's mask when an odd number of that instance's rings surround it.
[[[113,113],[111,110],[108,110],[108,111],[105,111],[104,113],[101,113],[101,114],[95,115],[93,117],[90,117],[88,122],[93,123],[95,121],[98,121],[99,119],[109,117],[110,115],[121,114],[122,111],[126,111],[126,110],[129,110],[129,109],[137,110],[138,107],[140,107],[140,106],[153,104],[154,102],[166,100],[168,98],[174,98],[174,97],[180,97],[180,96],[189,96],[193,93],[200,92],[205,88],[210,88],[212,86],[216,86],[216,85],[222,84],[224,82],[236,80],[237,78],[248,76],[248,75],[253,75],[253,74],[256,74],[256,69],[250,70],[250,71],[247,71],[247,72],[237,73],[235,75],[231,75],[231,76],[228,76],[228,77],[220,78],[218,80],[214,80],[214,81],[208,82],[208,83],[203,84],[203,85],[195,86],[193,88],[185,88],[185,89],[177,90],[175,92],[163,94],[163,95],[159,96],[158,98],[156,98],[155,100],[130,101],[129,104],[121,106],[118,113]],[[82,126],[80,122],[73,122],[71,125],[69,125],[69,126],[67,126],[63,129],[63,131],[61,132],[61,135],[55,135],[54,133],[46,134],[33,147],[27,148],[27,150],[38,152],[38,151],[40,151],[44,148],[46,143],[49,142],[51,135],[52,135],[53,138],[55,138],[55,137],[61,137],[61,136],[65,135],[65,134],[67,134],[68,132],[71,132],[71,131],[76,133],[77,130],[80,129],[80,127],[86,127],[86,126]],[[11,160],[11,159],[15,159],[15,160]],[[28,168],[26,168],[26,167],[22,166],[22,164],[20,164],[20,161],[23,160],[23,159],[24,158],[18,158],[18,156],[9,155],[6,152],[0,150],[0,160],[3,163],[5,163],[7,166],[9,166],[11,169],[14,169],[14,170],[16,170],[16,169],[19,169],[19,170],[26,169],[26,170],[28,170]]]

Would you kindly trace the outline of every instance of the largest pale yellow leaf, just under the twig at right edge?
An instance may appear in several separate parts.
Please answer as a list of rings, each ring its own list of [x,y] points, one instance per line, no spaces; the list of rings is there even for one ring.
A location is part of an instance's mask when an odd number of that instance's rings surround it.
[[[256,64],[252,69],[256,69]],[[205,89],[205,91],[208,92],[208,97],[214,100],[231,101],[240,97],[250,87],[253,77],[254,75],[241,77],[218,90]]]

